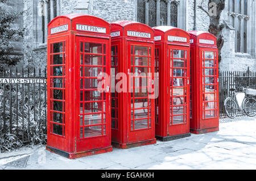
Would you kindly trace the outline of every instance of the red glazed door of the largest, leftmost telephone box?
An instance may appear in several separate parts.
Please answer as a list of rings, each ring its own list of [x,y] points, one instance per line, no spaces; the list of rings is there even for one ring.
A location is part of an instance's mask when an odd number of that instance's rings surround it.
[[[109,146],[109,40],[77,36],[79,125],[77,152]],[[102,78],[98,78],[102,77]],[[106,85],[104,85],[104,82]],[[98,89],[101,83],[102,89]]]

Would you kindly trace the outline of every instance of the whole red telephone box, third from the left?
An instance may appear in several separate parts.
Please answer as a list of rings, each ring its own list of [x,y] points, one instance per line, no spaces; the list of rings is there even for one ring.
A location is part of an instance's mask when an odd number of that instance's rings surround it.
[[[155,72],[159,96],[155,100],[155,134],[161,141],[189,133],[189,35],[171,26],[154,27]],[[157,76],[157,75],[156,75]]]

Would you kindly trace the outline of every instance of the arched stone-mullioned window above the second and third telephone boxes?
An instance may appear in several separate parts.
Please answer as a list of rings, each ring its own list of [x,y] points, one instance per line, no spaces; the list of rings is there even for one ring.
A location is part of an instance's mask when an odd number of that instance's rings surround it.
[[[150,27],[177,27],[179,0],[137,0],[137,21]]]

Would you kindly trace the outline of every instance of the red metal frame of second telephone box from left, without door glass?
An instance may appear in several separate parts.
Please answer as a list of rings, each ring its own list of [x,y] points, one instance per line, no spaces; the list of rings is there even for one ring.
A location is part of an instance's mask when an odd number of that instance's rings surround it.
[[[150,33],[150,38],[128,36],[127,31]],[[134,67],[131,66],[131,57],[133,57],[133,55],[131,55],[131,46],[135,45],[148,47],[148,49],[150,48],[150,52],[148,53],[151,53],[151,66],[148,66],[148,68],[150,68],[150,71],[154,73],[154,30],[152,30],[152,28],[148,27],[146,24],[138,22],[122,21],[111,23],[111,32],[117,32],[117,34],[112,37],[112,48],[114,49],[115,47],[118,49],[116,54],[118,57],[118,73],[125,73],[127,75],[127,80],[129,79],[128,77],[131,73],[131,68]],[[112,56],[112,60],[114,60],[114,57],[115,56]],[[112,65],[112,68],[116,68],[114,63]],[[154,79],[154,74],[152,75],[152,79]],[[119,81],[119,79],[117,81]],[[130,82],[127,81],[127,85],[122,85],[123,88],[127,86],[127,89],[129,89],[129,83]],[[148,99],[148,102],[151,103],[151,118],[147,120],[148,124],[149,120],[151,120],[150,128],[131,130],[132,93],[123,91],[118,93],[115,92],[114,94],[114,101],[115,104],[118,103],[118,106],[117,109],[113,107],[112,110],[113,112],[118,112],[118,117],[114,117],[115,119],[113,120],[113,123],[118,126],[112,126],[113,146],[126,149],[134,146],[154,144],[156,142],[154,99]],[[113,115],[114,114],[116,115],[116,113],[113,113]],[[116,123],[116,121],[118,121],[118,123]]]

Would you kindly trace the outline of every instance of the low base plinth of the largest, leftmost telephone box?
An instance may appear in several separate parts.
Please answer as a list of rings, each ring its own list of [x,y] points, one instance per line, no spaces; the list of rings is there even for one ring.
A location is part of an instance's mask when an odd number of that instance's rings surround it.
[[[100,149],[94,149],[94,150],[88,150],[88,151],[81,151],[78,153],[68,153],[66,151],[62,151],[56,148],[52,148],[51,146],[46,146],[46,149],[48,151],[51,151],[52,153],[56,153],[59,154],[65,158],[69,158],[69,159],[75,159],[75,158],[80,158],[80,157],[86,157],[89,155],[94,155],[94,154],[101,154],[101,153],[106,153],[106,152],[110,152],[113,151],[112,146],[109,147],[105,147],[105,148],[100,148]]]

